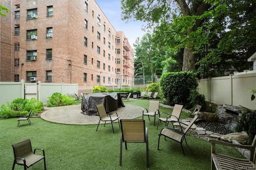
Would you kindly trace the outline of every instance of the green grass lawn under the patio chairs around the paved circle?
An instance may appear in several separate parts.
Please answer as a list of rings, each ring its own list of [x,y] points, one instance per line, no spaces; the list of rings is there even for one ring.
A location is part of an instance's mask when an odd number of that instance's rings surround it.
[[[124,102],[147,108],[144,100]],[[171,112],[171,109],[160,107],[160,112]],[[188,117],[183,113],[181,118]],[[141,118],[141,117],[140,117]],[[203,139],[187,136],[182,154],[181,146],[172,140],[160,139],[160,150],[157,150],[158,133],[153,126],[153,119],[146,127],[149,135],[149,161],[152,170],[191,169],[205,170],[211,168],[211,146]],[[31,126],[22,122],[17,127],[17,118],[0,120],[0,167],[3,170],[12,168],[12,144],[30,138],[32,148],[44,148],[46,153],[46,168],[48,170],[143,170],[146,168],[146,144],[128,143],[128,150],[123,146],[122,166],[119,166],[120,129],[114,123],[113,134],[111,124],[100,125],[63,125],[44,121],[41,118],[31,118]],[[236,149],[217,147],[223,153],[233,156],[241,154]],[[217,151],[218,151],[217,150]],[[40,153],[40,152],[37,152]],[[15,166],[15,170],[23,169]],[[43,161],[34,164],[30,170],[43,169]]]

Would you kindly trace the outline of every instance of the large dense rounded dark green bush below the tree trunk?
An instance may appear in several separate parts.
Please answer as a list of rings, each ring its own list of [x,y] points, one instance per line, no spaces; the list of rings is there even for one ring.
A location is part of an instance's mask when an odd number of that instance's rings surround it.
[[[190,71],[164,73],[159,82],[166,104],[180,104],[185,108],[190,105],[190,91],[198,86],[196,75]]]

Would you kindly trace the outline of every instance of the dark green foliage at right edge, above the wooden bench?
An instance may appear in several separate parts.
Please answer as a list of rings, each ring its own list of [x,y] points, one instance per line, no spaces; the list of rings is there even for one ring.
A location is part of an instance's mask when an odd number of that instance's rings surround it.
[[[256,110],[250,111],[249,109],[246,109],[242,112],[236,127],[236,131],[246,131],[249,136],[249,142],[250,144],[252,143],[252,140],[256,134]]]

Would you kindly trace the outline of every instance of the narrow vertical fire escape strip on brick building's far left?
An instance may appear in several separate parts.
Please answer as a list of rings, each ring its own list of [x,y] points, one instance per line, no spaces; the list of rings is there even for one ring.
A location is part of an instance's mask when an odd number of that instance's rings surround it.
[[[19,72],[20,67],[20,0],[16,0],[16,9],[14,17],[14,81],[19,81]]]

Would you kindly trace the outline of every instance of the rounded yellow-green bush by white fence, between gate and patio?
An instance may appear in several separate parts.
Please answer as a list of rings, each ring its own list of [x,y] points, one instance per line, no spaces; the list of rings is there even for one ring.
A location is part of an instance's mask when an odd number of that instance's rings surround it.
[[[47,107],[57,107],[74,105],[75,100],[68,95],[61,95],[60,93],[53,93],[51,97],[48,97]]]

